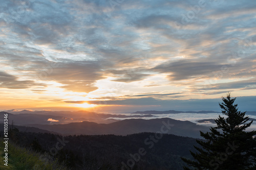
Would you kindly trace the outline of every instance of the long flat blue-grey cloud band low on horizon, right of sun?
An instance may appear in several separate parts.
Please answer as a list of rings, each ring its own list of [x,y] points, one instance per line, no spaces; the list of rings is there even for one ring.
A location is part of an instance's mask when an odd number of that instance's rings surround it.
[[[225,96],[225,95],[224,95]],[[242,111],[255,110],[256,96],[237,96],[236,103]],[[154,98],[139,98],[139,99],[124,99],[110,101],[86,101],[88,104],[104,105],[104,106],[134,106],[130,110],[145,111],[145,110],[214,110],[220,111],[219,103],[222,103],[221,98],[218,99],[189,99],[189,100],[160,100]],[[138,108],[138,106],[141,106]],[[154,107],[152,107],[154,106]],[[136,110],[137,108],[137,110]],[[121,111],[122,108],[119,108]],[[129,109],[128,109],[129,110]]]

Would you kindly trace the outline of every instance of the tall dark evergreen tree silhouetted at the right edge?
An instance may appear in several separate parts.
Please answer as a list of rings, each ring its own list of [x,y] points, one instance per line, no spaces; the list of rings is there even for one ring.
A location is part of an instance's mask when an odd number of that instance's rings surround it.
[[[191,169],[256,169],[256,131],[245,131],[252,121],[248,123],[246,112],[238,111],[235,100],[230,93],[222,97],[223,103],[219,105],[226,118],[219,115],[215,119],[217,127],[206,133],[200,131],[206,141],[197,140],[201,148],[194,146],[197,152],[190,151],[195,160],[182,158]]]

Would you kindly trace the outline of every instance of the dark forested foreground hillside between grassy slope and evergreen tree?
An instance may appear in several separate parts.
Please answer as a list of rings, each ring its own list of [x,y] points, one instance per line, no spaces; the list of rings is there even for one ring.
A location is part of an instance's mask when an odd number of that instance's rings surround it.
[[[16,135],[16,142],[23,147],[48,154],[49,159],[65,162],[70,169],[87,170],[120,170],[122,162],[128,166],[127,161],[134,159],[136,161],[133,169],[182,169],[184,162],[180,157],[191,158],[189,150],[194,151],[193,145],[198,145],[194,138],[170,134],[156,136],[154,133],[62,137],[47,133],[19,132]],[[56,149],[56,143],[61,149],[56,150],[57,154],[51,154]],[[139,158],[141,149],[143,155]]]

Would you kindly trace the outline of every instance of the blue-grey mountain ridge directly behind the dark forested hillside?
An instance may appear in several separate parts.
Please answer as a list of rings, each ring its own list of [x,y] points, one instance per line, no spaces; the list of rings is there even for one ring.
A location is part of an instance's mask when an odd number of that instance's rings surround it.
[[[171,125],[170,129],[163,126],[165,124]],[[201,138],[200,132],[206,132],[209,127],[196,125],[189,121],[175,120],[171,118],[156,118],[156,119],[125,119],[111,124],[97,124],[93,122],[70,123],[65,125],[27,125],[44,129],[48,131],[57,132],[63,135],[128,135],[140,132],[158,132],[164,128],[164,133],[175,134],[179,136],[188,136],[194,138]],[[167,130],[167,131],[166,131]]]

